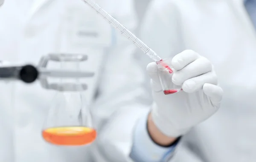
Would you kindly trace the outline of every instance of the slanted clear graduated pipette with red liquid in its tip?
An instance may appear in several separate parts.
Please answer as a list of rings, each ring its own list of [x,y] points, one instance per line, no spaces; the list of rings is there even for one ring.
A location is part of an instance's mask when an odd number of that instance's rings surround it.
[[[151,48],[149,48],[143,41],[137,38],[132,32],[130,32],[125,26],[119,23],[115,18],[113,18],[108,12],[102,9],[97,3],[93,0],[83,0],[87,3],[91,8],[93,8],[98,14],[102,15],[102,17],[108,21],[108,23],[112,24],[116,29],[119,29],[122,35],[125,35],[126,38],[131,40],[136,46],[138,46],[146,55],[148,55],[152,60],[159,62],[162,59],[154,52]],[[165,64],[164,62],[161,63],[166,69],[168,69],[169,73],[172,73],[172,69]]]

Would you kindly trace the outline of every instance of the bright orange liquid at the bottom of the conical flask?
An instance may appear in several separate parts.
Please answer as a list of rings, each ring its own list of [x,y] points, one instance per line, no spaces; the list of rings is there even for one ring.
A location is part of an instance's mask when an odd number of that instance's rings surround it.
[[[96,139],[96,130],[90,127],[52,127],[42,132],[44,139],[54,145],[86,145]]]

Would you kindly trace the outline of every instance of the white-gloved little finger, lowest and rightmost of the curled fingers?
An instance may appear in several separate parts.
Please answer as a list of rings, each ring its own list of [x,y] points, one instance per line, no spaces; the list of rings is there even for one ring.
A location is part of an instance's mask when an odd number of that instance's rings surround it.
[[[204,94],[210,98],[213,105],[219,106],[223,96],[223,90],[221,87],[206,83],[203,86],[203,91]]]

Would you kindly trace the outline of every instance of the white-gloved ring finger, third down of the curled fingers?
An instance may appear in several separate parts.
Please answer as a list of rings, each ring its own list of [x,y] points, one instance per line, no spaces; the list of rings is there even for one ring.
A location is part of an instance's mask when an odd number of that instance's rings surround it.
[[[184,81],[182,89],[186,93],[194,93],[201,90],[206,83],[217,85],[218,79],[215,72],[207,72],[206,74]]]

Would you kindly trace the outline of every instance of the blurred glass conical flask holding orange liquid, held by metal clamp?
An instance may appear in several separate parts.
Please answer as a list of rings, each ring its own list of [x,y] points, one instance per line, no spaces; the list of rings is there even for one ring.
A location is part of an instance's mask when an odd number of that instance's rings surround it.
[[[70,67],[68,64],[71,64],[80,70],[79,59],[68,55],[61,55],[60,58],[61,69],[67,69]],[[56,95],[42,130],[45,141],[65,146],[93,142],[96,139],[96,130],[93,128],[91,112],[84,97],[86,84],[81,84],[80,79],[75,77],[61,78],[58,83],[48,87],[55,90]]]

